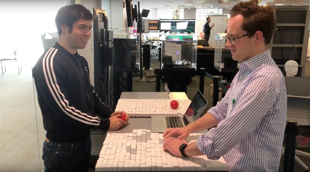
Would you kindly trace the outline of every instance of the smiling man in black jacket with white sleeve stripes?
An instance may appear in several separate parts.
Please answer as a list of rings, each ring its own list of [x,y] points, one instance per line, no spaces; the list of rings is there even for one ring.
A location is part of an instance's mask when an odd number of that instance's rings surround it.
[[[47,131],[44,171],[88,171],[90,129],[113,131],[126,125],[126,112],[113,112],[93,92],[86,59],[78,49],[91,36],[92,14],[82,5],[59,9],[55,23],[60,38],[33,67],[33,78]],[[126,115],[126,121],[119,117]]]

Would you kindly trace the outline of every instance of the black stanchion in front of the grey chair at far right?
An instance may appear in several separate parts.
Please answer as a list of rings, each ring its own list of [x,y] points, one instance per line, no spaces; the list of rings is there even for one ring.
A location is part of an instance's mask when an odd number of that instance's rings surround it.
[[[296,121],[287,120],[285,127],[285,149],[284,149],[284,172],[294,171],[296,136],[298,125]]]

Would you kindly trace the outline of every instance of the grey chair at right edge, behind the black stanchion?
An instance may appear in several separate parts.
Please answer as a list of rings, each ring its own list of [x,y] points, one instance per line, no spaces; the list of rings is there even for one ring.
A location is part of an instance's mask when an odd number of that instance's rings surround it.
[[[284,77],[287,93],[287,120],[297,121],[300,125],[310,126],[310,78]],[[308,133],[309,134],[309,133]],[[284,155],[282,148],[281,157]],[[310,153],[295,150],[295,161],[306,171],[308,167],[297,157],[297,155],[310,157]]]

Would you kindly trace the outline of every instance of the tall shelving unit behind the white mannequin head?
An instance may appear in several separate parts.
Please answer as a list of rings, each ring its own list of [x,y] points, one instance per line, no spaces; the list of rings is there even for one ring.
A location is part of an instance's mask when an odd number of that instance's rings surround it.
[[[274,6],[274,8],[277,27],[269,44],[271,57],[284,75],[286,61],[297,61],[299,67],[297,76],[304,77],[309,40],[309,6]]]

